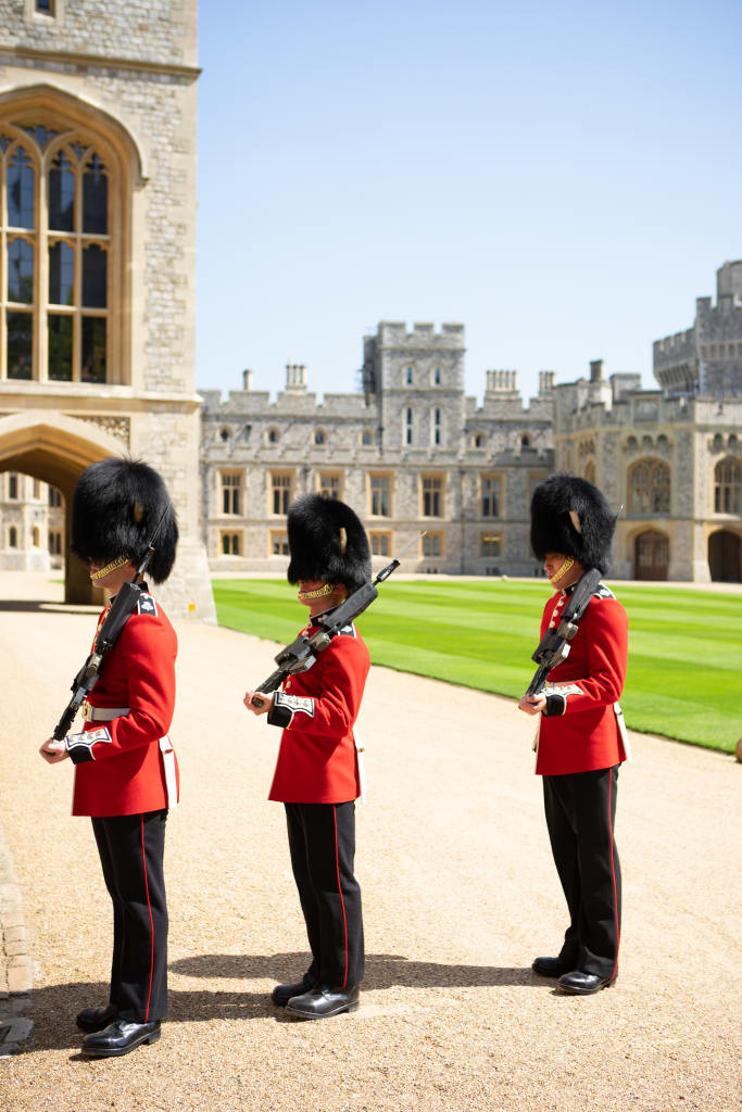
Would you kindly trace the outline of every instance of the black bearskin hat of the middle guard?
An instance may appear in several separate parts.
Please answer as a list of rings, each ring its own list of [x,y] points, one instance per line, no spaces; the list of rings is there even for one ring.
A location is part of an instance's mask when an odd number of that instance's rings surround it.
[[[370,580],[368,537],[355,510],[336,498],[305,494],[288,507],[289,583],[321,579],[356,590]]]

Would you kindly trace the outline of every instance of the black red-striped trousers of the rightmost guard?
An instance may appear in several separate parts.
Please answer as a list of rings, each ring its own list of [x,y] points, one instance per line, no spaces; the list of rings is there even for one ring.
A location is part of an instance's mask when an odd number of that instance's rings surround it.
[[[621,866],[613,827],[619,766],[544,776],[544,806],[570,926],[560,959],[613,977],[619,969]]]

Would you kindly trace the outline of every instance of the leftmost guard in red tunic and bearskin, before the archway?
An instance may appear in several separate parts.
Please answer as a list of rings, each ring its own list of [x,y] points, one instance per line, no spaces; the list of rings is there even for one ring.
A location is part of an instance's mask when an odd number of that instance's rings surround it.
[[[156,530],[148,574],[162,583],[175,563],[178,526],[161,477],[147,464],[115,458],[82,473],[72,503],[72,545],[97,586],[116,596],[131,583]],[[49,738],[40,751],[49,764],[66,757],[75,764],[72,813],[92,820],[113,904],[108,1003],[77,1016],[87,1032],[82,1053],[95,1058],[156,1042],[166,1016],[162,854],[168,808],[178,796],[168,737],[177,647],[167,615],[144,584],[135,612],[103,657],[82,729],[61,741]]]

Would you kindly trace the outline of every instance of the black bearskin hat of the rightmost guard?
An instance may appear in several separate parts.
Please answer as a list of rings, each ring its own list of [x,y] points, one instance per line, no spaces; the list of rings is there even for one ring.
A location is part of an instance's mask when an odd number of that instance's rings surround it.
[[[531,547],[538,559],[563,553],[605,574],[615,523],[605,496],[576,475],[550,475],[533,492]]]

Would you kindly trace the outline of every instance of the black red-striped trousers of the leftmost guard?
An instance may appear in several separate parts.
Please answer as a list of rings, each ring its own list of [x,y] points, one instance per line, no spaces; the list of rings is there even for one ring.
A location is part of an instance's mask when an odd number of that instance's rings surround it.
[[[168,909],[162,855],[166,811],[93,818],[113,904],[110,1003],[122,1020],[164,1020],[168,993]]]

